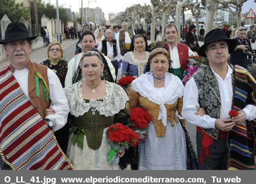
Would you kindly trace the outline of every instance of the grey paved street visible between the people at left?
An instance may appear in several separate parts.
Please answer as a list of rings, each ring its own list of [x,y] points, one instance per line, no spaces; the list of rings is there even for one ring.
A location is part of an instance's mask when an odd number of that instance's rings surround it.
[[[71,58],[75,55],[76,50],[76,42],[77,40],[63,40],[62,46],[64,48],[64,60],[69,61]],[[47,46],[44,46],[43,48],[36,49],[32,51],[32,54],[30,55],[30,58],[32,61],[40,63],[41,61],[44,61],[47,59]],[[0,62],[0,68],[3,66],[8,65],[8,61]]]

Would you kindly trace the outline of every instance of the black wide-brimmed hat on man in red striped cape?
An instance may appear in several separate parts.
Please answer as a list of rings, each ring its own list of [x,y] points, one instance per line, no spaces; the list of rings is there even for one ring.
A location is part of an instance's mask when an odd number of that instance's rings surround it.
[[[9,23],[6,32],[4,34],[4,39],[0,40],[0,44],[5,44],[11,41],[18,40],[34,40],[35,37],[29,37],[29,31],[23,23]]]

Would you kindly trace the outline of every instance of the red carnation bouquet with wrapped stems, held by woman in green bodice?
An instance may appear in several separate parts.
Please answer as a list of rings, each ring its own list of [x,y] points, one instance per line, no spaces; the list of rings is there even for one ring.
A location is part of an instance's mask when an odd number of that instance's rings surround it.
[[[111,150],[108,152],[108,161],[111,165],[119,163],[117,153],[122,148],[135,147],[140,142],[140,137],[128,126],[116,123],[108,128],[108,140],[111,144]]]

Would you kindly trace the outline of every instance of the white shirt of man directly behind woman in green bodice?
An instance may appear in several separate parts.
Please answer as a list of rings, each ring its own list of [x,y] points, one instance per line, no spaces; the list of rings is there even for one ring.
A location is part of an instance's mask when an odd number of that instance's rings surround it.
[[[72,78],[75,75],[76,69],[79,66],[79,62],[83,55],[84,55],[84,52],[81,52],[80,54],[76,55],[67,63],[67,75],[65,78],[65,87],[72,85]],[[110,59],[107,56],[104,56],[104,57],[108,62],[108,66],[109,66],[111,75],[113,77],[113,80],[116,80],[116,72],[113,64],[111,63]]]

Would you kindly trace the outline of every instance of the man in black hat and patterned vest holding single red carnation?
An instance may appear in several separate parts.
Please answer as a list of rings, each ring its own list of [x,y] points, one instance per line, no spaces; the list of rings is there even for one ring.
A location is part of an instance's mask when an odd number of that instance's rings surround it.
[[[198,55],[207,57],[209,66],[186,83],[182,115],[197,126],[200,170],[256,169],[256,81],[228,63],[235,48],[236,40],[228,40],[221,29],[208,32]],[[194,114],[199,105],[206,115]]]

